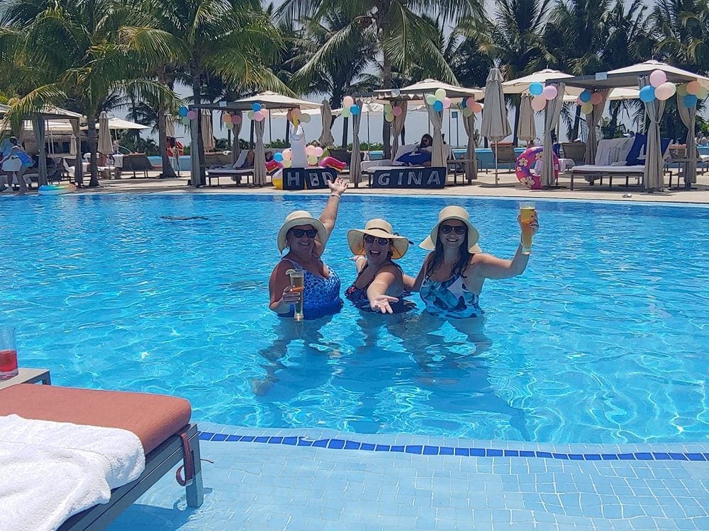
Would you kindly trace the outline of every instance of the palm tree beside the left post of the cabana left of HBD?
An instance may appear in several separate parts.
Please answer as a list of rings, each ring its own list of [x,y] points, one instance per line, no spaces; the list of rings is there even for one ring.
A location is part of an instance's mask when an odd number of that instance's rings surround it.
[[[141,10],[140,23],[123,28],[123,38],[158,69],[182,72],[195,105],[202,103],[207,76],[218,76],[234,87],[288,91],[263,66],[276,55],[280,42],[276,28],[256,1],[143,0]],[[160,111],[164,115],[162,108]],[[160,122],[164,130],[164,118]],[[197,120],[197,131],[200,174],[192,180],[199,186],[205,183],[201,120]]]

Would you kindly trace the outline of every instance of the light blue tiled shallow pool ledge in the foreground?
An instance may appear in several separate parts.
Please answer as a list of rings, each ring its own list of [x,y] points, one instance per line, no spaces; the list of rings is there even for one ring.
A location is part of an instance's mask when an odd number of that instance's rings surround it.
[[[709,530],[709,443],[200,429],[203,506],[167,474],[111,531]]]

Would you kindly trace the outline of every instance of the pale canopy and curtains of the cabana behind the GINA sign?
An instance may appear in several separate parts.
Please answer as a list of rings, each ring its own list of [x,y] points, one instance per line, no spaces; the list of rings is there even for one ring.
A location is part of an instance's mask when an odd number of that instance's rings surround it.
[[[392,156],[396,155],[396,148],[398,148],[398,137],[401,135],[403,130],[404,122],[406,121],[406,112],[408,109],[409,102],[422,102],[428,112],[428,118],[430,124],[432,125],[432,137],[433,137],[433,152],[432,152],[432,166],[446,166],[445,160],[445,147],[443,145],[442,137],[442,123],[443,123],[443,111],[435,110],[432,105],[425,101],[425,96],[427,94],[435,94],[437,90],[444,90],[446,97],[450,99],[452,103],[459,103],[466,98],[475,98],[476,100],[481,100],[484,98],[484,91],[480,89],[466,89],[462,86],[451,85],[444,83],[443,81],[437,81],[436,79],[424,79],[413,85],[405,86],[403,89],[386,89],[374,91],[374,98],[378,101],[386,101],[392,105],[396,104],[402,109],[402,113],[395,116],[393,122],[391,122],[391,152]],[[467,129],[466,129],[467,130]],[[472,152],[471,152],[472,150]],[[359,154],[357,154],[357,157]],[[352,154],[353,160],[357,160],[354,153]],[[475,159],[475,146],[474,143],[468,142],[468,153],[467,159]],[[474,166],[473,166],[474,167]],[[474,170],[473,170],[474,171]],[[474,175],[468,175],[468,180],[471,178],[476,178]],[[355,184],[359,181],[355,181]]]

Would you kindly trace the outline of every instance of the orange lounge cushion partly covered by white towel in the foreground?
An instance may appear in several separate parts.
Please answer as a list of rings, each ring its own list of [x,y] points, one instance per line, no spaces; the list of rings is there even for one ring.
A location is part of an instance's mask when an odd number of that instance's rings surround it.
[[[0,416],[122,428],[149,453],[189,424],[189,401],[163,394],[18,384],[0,389]]]

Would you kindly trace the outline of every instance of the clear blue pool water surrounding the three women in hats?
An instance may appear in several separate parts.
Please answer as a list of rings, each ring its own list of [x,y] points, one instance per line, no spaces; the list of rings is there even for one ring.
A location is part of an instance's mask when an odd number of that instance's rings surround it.
[[[345,305],[296,325],[267,309],[285,215],[323,195],[0,198],[3,321],[56,384],[176,394],[194,418],[539,442],[709,440],[709,209],[537,202],[525,275],[488,281],[483,324]],[[417,244],[450,203],[510,257],[518,202],[346,195],[345,234],[388,218]],[[169,221],[163,215],[208,219]],[[401,261],[418,270],[425,251]]]

